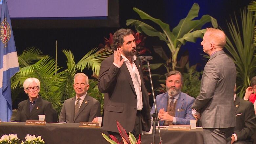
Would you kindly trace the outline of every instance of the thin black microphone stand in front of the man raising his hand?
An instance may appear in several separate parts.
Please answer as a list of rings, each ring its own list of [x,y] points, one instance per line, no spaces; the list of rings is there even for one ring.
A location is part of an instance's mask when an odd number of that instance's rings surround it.
[[[153,89],[153,84],[152,84],[152,78],[151,78],[151,71],[150,71],[150,65],[149,65],[149,61],[145,58],[143,58],[144,61],[147,62],[148,65],[148,72],[149,72],[149,79],[150,79],[150,85],[151,85],[151,90],[152,90],[152,95],[153,95],[153,101],[154,101],[154,105],[155,105],[155,113],[152,114],[151,116],[153,117],[153,144],[155,144],[155,137],[156,137],[156,121],[157,121],[157,126],[158,126],[158,133],[159,133],[159,139],[160,142],[162,141],[161,139],[161,134],[160,134],[160,127],[159,127],[159,119],[158,119],[158,112],[157,112],[157,105],[156,105],[156,100],[155,100],[155,94],[154,94],[154,89]]]

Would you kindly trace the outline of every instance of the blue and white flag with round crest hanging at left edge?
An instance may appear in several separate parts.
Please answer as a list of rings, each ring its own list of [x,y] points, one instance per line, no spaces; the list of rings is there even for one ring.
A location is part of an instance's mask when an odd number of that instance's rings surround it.
[[[12,114],[10,79],[19,71],[19,62],[6,0],[2,2],[0,39],[0,119],[10,121]]]

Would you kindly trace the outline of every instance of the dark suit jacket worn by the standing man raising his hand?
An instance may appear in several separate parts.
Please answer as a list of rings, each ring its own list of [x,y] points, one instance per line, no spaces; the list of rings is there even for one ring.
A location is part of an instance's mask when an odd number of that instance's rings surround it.
[[[121,57],[122,58],[122,57]],[[116,120],[124,127],[126,132],[134,128],[137,113],[137,95],[133,86],[132,78],[125,64],[121,68],[113,65],[114,55],[106,58],[100,66],[98,88],[104,93],[103,129],[118,132]],[[150,106],[148,92],[144,85],[142,64],[138,59],[135,65],[141,79],[141,91],[143,108],[142,130],[150,130]]]

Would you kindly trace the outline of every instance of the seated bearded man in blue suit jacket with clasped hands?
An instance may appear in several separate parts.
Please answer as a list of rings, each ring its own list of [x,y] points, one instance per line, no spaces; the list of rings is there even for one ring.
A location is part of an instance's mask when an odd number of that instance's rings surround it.
[[[179,71],[171,71],[166,76],[166,93],[157,95],[159,125],[190,125],[189,120],[195,119],[191,106],[195,98],[181,92],[183,77]],[[155,113],[155,105],[151,109]]]

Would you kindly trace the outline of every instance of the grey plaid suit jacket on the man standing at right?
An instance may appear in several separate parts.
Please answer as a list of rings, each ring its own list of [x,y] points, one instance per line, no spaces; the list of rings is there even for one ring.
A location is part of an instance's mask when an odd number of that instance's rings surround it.
[[[200,112],[203,128],[235,127],[236,67],[223,50],[211,55],[204,67],[200,93],[192,109]]]

